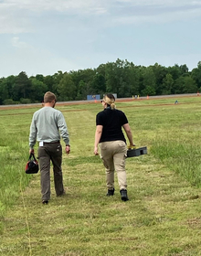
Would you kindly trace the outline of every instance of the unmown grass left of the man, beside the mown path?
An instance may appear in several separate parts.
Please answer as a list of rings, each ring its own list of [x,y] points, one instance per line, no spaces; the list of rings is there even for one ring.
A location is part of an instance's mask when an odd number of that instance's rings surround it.
[[[13,205],[20,189],[25,189],[31,178],[23,172],[28,158],[31,114],[21,112],[0,112],[0,217],[4,216],[6,208]]]

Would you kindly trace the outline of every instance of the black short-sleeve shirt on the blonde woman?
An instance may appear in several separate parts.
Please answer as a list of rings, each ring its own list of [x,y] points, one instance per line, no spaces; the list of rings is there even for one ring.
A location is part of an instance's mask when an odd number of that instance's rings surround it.
[[[122,111],[106,108],[99,112],[96,116],[96,125],[103,126],[100,143],[119,140],[126,142],[122,133],[122,125],[125,123],[128,123],[128,120]]]

